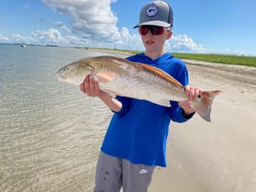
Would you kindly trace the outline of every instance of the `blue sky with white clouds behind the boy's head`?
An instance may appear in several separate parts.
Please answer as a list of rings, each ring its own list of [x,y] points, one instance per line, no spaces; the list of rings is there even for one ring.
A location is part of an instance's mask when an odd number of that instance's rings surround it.
[[[0,43],[143,51],[140,9],[151,0],[1,0]],[[256,55],[256,0],[168,0],[172,53]]]

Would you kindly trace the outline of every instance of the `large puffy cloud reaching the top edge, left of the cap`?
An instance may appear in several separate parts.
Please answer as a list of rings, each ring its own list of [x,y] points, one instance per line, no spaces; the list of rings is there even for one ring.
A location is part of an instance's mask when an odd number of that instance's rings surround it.
[[[111,11],[115,0],[44,0],[54,11],[69,15],[72,30],[91,39],[109,38],[118,32],[117,16]]]

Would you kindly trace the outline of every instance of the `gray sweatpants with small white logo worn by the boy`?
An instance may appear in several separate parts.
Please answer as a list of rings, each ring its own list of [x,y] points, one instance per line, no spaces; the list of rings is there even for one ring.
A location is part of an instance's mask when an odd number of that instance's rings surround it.
[[[95,192],[147,192],[154,166],[134,164],[100,152]]]

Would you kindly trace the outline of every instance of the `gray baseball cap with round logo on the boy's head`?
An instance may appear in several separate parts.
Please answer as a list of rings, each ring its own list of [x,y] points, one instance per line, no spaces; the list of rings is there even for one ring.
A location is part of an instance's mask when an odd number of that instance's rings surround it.
[[[160,26],[164,28],[173,27],[173,11],[169,4],[165,1],[153,1],[145,5],[139,15],[139,26],[150,25]]]

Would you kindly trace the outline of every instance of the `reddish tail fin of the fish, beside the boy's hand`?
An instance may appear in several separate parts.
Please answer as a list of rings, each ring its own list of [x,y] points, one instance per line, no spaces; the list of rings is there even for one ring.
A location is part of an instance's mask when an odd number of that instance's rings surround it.
[[[203,117],[204,120],[210,122],[211,121],[211,106],[215,96],[221,94],[222,91],[210,91],[210,92],[203,92],[202,96],[200,97],[199,103],[197,103],[193,108],[197,112],[197,114]]]

